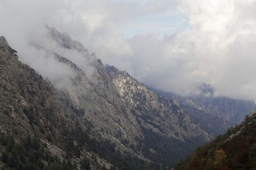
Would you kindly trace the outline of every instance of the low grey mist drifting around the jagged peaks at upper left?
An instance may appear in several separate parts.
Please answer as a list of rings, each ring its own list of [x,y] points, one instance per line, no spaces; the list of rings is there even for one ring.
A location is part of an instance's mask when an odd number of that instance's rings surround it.
[[[53,3],[50,1],[24,1],[22,3],[0,1],[0,4],[2,26],[0,33],[6,37],[11,47],[18,51],[22,62],[36,69],[58,89],[70,86],[70,78],[75,77],[75,73],[67,64],[56,60],[53,53],[49,51],[57,52],[73,61],[85,72],[88,78],[91,78],[92,72],[94,72],[92,67],[94,57],[85,56],[76,50],[63,49],[49,38],[48,23],[56,22],[56,27],[65,24],[65,16],[61,15],[65,3],[62,1],[54,1]],[[78,22],[78,24],[80,23]]]

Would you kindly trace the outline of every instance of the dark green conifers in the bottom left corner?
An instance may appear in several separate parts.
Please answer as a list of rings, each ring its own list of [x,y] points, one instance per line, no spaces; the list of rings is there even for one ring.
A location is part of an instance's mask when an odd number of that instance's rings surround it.
[[[60,159],[46,152],[38,139],[29,135],[18,143],[14,142],[14,137],[0,135],[0,145],[4,148],[4,152],[1,153],[3,170],[73,169],[70,162],[60,162]]]

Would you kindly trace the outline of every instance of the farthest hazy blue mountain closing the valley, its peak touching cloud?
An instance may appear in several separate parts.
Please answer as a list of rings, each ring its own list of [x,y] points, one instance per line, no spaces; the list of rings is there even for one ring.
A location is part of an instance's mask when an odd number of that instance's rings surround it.
[[[214,89],[209,84],[202,84],[196,96],[178,96],[157,91],[167,98],[176,99],[192,118],[203,125],[219,125],[215,135],[219,135],[231,126],[238,125],[245,116],[256,109],[254,101],[237,100],[224,96],[214,96]],[[215,120],[215,123],[212,122]],[[210,122],[209,122],[210,121]],[[210,131],[214,132],[213,128]]]

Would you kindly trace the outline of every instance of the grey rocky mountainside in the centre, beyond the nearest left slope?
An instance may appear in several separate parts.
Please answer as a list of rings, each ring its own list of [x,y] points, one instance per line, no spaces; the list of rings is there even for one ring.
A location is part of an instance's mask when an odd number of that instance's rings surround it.
[[[51,34],[53,40],[63,40],[56,36],[63,35]],[[66,44],[70,44],[65,48],[73,49],[72,40],[65,39],[69,40]],[[60,47],[62,45],[63,42]],[[146,162],[156,163],[160,158],[166,165],[182,159],[193,148],[212,138],[209,132],[193,122],[177,101],[155,94],[125,72],[104,67],[95,55],[87,52],[84,57],[94,67],[93,74],[87,77],[86,72],[73,66],[76,74],[72,78],[73,85],[63,94],[66,96],[64,100],[69,102],[72,96],[69,105],[82,113],[82,125],[90,123],[87,127],[90,137],[99,142],[106,140],[119,152],[127,152]],[[71,64],[63,57],[58,58]],[[162,145],[160,149],[159,145]],[[174,157],[177,152],[181,156]]]

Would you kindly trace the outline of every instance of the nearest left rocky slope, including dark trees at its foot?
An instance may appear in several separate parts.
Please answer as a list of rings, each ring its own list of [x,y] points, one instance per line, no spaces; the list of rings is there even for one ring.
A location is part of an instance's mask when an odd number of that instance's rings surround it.
[[[60,94],[35,70],[18,61],[4,37],[0,38],[0,63],[0,155],[4,163],[0,169],[64,165],[65,154],[58,155],[53,147],[68,144],[62,142],[66,140],[63,133],[65,129],[70,132],[75,122],[68,118],[70,111],[60,101]]]

